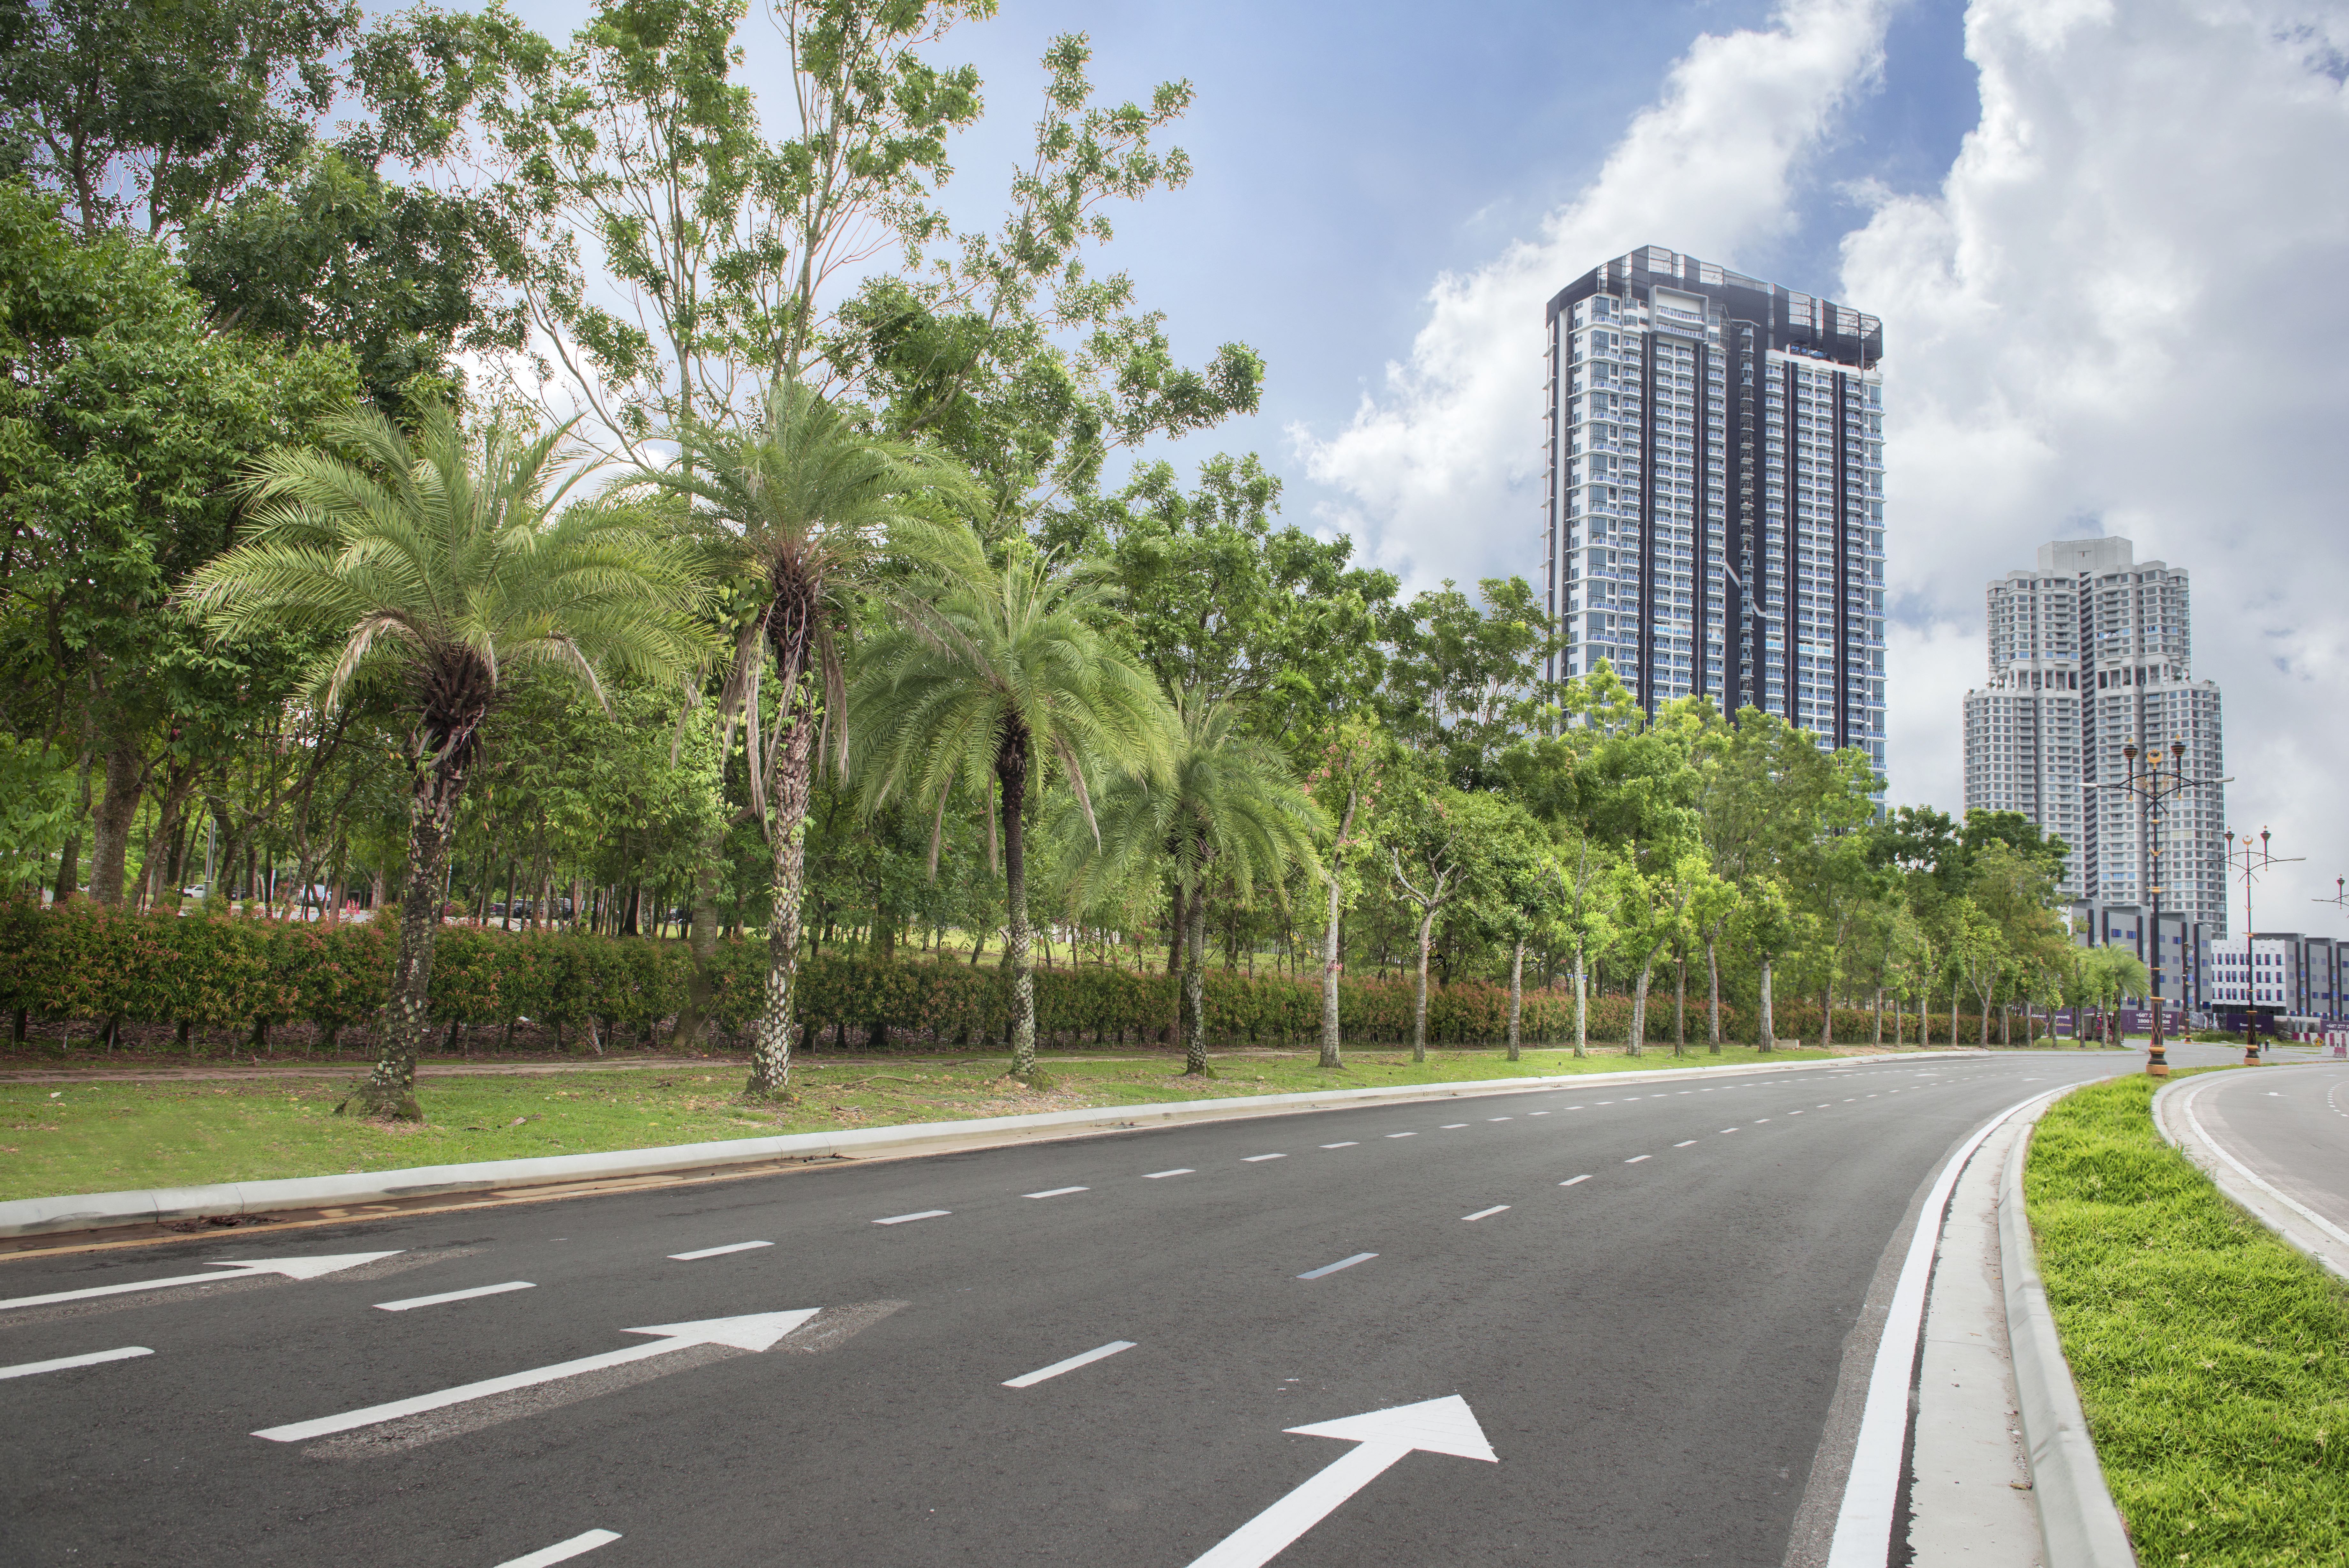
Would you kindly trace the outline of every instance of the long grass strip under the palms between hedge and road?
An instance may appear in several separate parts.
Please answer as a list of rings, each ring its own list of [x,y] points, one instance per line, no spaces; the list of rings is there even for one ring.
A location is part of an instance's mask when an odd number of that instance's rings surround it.
[[[824,1058],[813,1067],[801,1063],[794,1074],[799,1103],[785,1107],[742,1105],[742,1067],[735,1063],[651,1072],[428,1077],[420,1081],[428,1121],[392,1128],[334,1114],[357,1081],[357,1070],[348,1081],[287,1074],[228,1084],[0,1084],[0,1199],[587,1154],[1090,1105],[1816,1056],[1820,1051],[1762,1058],[1745,1046],[1705,1056],[1696,1046],[1675,1063],[1665,1046],[1649,1048],[1642,1058],[1583,1060],[1574,1060],[1571,1051],[1527,1051],[1513,1065],[1499,1051],[1431,1051],[1426,1065],[1414,1067],[1402,1051],[1348,1051],[1339,1072],[1322,1072],[1311,1056],[1224,1056],[1217,1058],[1212,1079],[1182,1077],[1177,1056],[1048,1058],[1055,1084],[1045,1091],[1008,1081],[1008,1058],[867,1056],[848,1063]]]

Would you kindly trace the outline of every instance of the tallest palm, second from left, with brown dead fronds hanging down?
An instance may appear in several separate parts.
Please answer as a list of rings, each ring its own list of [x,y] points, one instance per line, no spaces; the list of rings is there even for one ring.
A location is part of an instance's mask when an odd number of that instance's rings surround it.
[[[937,564],[935,520],[968,501],[972,482],[947,456],[862,433],[796,381],[768,388],[749,430],[684,430],[677,465],[651,482],[693,503],[714,581],[756,578],[766,595],[735,637],[719,719],[721,755],[733,750],[735,719],[745,722],[752,809],[773,849],[775,914],[745,1093],[780,1095],[792,1084],[813,757],[829,743],[843,771],[848,762],[839,630],[857,592],[888,595],[888,562]],[[759,684],[770,651],[782,696],[773,731],[761,736]],[[707,860],[714,865],[714,846]],[[695,943],[705,933],[714,940],[698,917]],[[698,969],[709,957],[695,947]]]

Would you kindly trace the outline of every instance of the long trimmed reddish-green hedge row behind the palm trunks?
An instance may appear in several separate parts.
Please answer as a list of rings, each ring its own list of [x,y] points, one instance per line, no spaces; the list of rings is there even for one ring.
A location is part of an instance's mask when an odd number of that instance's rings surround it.
[[[45,1020],[115,1018],[207,1030],[310,1023],[341,1032],[364,1027],[383,1006],[395,936],[376,924],[181,919],[87,903],[61,910],[7,903],[0,905],[0,1006]],[[763,943],[719,945],[714,1018],[728,1037],[742,1034],[756,1013],[763,976]],[[601,1037],[646,1039],[677,1016],[688,980],[684,943],[446,926],[432,954],[432,1016],[442,1025],[531,1020],[573,1037],[592,1025]],[[1041,969],[1036,1013],[1041,1037],[1052,1044],[1163,1041],[1172,1037],[1174,983],[1163,973]],[[1722,1013],[1729,1039],[1752,1037],[1748,1011],[1724,1006]],[[1010,980],[994,966],[820,954],[801,969],[801,1018],[810,1032],[836,1032],[857,1046],[998,1041],[1010,1018]],[[1781,1004],[1776,1025],[1781,1037],[1816,1039],[1818,1006]],[[1341,980],[1339,1027],[1358,1044],[1409,1039],[1409,980]],[[1621,1041],[1630,1001],[1595,997],[1588,1027],[1597,1044]],[[1691,1041],[1705,1039],[1703,997],[1691,994],[1687,1027]],[[1872,1027],[1870,1013],[1837,1009],[1839,1041],[1865,1041]],[[1936,1034],[1945,1030],[1947,1016]],[[1207,1034],[1217,1044],[1301,1041],[1318,1032],[1315,983],[1207,971]],[[1433,1044],[1494,1044],[1506,1032],[1506,987],[1431,987]],[[1571,1032],[1571,994],[1525,994],[1529,1044],[1567,1041]],[[1670,992],[1651,994],[1647,1039],[1672,1039]]]

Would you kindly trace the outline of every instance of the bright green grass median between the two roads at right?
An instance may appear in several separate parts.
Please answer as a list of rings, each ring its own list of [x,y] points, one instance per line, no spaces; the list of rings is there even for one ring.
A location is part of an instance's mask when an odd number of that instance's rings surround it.
[[[2025,1175],[2138,1561],[2349,1563],[2349,1286],[2161,1143],[2154,1088],[2140,1074],[2058,1100]]]

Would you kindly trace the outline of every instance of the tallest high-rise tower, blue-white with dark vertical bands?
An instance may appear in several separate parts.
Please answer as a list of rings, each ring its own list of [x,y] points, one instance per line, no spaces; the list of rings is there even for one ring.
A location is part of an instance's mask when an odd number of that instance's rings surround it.
[[[1550,677],[1776,712],[1884,769],[1884,324],[1649,244],[1548,308]]]

